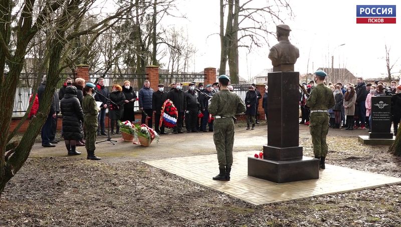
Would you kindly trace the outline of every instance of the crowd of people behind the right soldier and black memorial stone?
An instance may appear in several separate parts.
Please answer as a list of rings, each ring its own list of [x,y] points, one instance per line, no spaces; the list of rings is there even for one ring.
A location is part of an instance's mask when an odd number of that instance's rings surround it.
[[[393,133],[397,134],[398,124],[401,119],[401,85],[391,81],[390,86],[380,81],[366,83],[363,78],[356,79],[356,84],[328,83],[327,86],[333,92],[335,105],[328,110],[329,127],[345,130],[368,129],[372,125],[371,98],[373,96],[391,96],[391,121]],[[303,83],[299,90],[299,104],[301,107],[300,124],[309,125],[310,109],[306,101],[312,90],[316,87],[312,80],[308,84]]]

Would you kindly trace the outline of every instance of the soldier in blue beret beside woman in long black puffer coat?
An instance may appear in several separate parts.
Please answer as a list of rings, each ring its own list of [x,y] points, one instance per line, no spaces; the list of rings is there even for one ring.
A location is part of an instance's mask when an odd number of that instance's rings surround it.
[[[85,84],[83,89],[84,99],[82,101],[82,110],[84,111],[84,126],[86,132],[86,143],[85,148],[88,156],[86,159],[100,160],[100,157],[95,155],[95,142],[96,142],[96,130],[97,130],[97,114],[99,108],[96,105],[95,98],[92,96],[93,89],[96,85],[88,82]]]

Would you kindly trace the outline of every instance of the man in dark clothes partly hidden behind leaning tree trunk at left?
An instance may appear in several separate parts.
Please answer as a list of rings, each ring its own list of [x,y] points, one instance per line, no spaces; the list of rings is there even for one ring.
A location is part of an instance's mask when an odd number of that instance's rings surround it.
[[[43,93],[45,92],[45,88],[46,88],[46,76],[43,77],[42,83],[38,88],[39,105],[43,100]],[[57,95],[56,92],[54,93]],[[42,126],[41,137],[42,137],[42,146],[44,147],[55,147],[56,145],[54,143],[57,143],[57,141],[54,140],[54,133],[53,133],[54,129],[53,124],[55,120],[57,121],[56,100],[54,100],[55,98],[57,98],[57,96],[55,94],[53,94],[52,104],[50,105],[50,111],[46,118],[45,124]],[[57,101],[59,101],[58,98]]]

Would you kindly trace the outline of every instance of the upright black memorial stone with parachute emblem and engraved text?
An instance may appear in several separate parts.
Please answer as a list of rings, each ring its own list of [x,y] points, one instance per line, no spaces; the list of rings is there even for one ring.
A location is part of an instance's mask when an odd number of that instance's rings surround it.
[[[391,96],[373,96],[371,104],[372,125],[370,139],[392,139]]]

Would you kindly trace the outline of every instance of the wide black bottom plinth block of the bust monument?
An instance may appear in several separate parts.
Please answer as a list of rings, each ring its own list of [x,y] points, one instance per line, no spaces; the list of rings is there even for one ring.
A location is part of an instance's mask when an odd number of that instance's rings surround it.
[[[319,160],[303,156],[299,160],[275,161],[248,157],[248,176],[276,183],[319,178]]]

